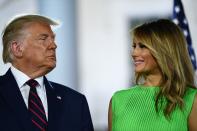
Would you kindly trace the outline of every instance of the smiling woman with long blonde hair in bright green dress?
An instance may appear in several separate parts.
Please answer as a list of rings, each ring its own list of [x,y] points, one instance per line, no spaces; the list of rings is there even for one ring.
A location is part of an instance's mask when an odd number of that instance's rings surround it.
[[[109,131],[197,131],[197,90],[182,31],[161,19],[132,33],[136,85],[112,96]]]

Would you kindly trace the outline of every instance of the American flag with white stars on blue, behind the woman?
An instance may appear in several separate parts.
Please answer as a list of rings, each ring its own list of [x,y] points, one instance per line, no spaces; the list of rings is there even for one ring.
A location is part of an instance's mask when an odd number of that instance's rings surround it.
[[[195,56],[194,49],[192,47],[192,40],[191,40],[190,31],[189,31],[189,25],[188,25],[188,21],[184,13],[184,8],[181,3],[181,0],[174,0],[172,19],[175,24],[180,26],[180,28],[182,29],[186,37],[187,48],[188,48],[188,52],[190,55],[190,59],[192,61],[194,69],[197,70],[196,56]]]

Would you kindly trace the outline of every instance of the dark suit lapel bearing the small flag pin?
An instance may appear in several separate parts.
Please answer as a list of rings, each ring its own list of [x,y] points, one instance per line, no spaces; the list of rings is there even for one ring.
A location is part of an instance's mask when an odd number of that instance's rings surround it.
[[[48,103],[48,131],[57,131],[59,127],[60,116],[62,115],[62,100],[61,96],[57,94],[55,88],[51,83],[44,77],[44,84],[47,93]]]

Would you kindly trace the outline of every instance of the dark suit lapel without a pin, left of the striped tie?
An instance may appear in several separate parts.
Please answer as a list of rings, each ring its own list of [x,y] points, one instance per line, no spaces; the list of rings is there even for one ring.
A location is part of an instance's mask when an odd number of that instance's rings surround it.
[[[4,96],[5,101],[13,110],[13,115],[16,117],[18,123],[26,131],[30,131],[32,129],[32,125],[28,116],[28,110],[10,69],[7,71],[3,78],[5,83],[2,87],[2,95]]]

